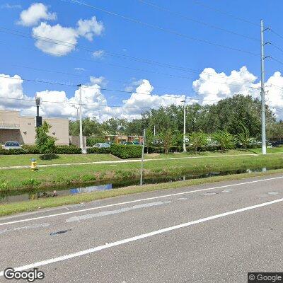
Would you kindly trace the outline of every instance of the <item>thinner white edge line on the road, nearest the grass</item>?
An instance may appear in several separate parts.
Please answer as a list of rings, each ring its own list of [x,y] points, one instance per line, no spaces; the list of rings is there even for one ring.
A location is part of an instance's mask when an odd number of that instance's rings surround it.
[[[238,185],[247,185],[247,184],[265,182],[265,181],[269,181],[269,180],[276,180],[276,179],[282,179],[282,178],[283,178],[283,176],[279,176],[279,177],[274,177],[274,178],[253,180],[253,181],[249,181],[249,182],[245,182],[245,183],[222,185],[222,186],[219,186],[219,187],[208,187],[206,189],[200,189],[200,190],[190,190],[188,192],[176,192],[175,194],[170,194],[170,195],[161,195],[161,196],[158,196],[158,197],[148,197],[148,198],[140,199],[140,200],[131,200],[129,202],[118,202],[116,204],[106,204],[106,205],[103,205],[101,207],[91,207],[91,208],[86,208],[86,209],[75,210],[73,212],[62,212],[62,213],[49,214],[49,215],[45,215],[45,216],[38,216],[38,217],[33,217],[33,218],[28,218],[28,219],[9,221],[9,222],[0,223],[0,226],[4,226],[4,225],[8,225],[8,224],[21,223],[21,222],[26,222],[26,221],[33,221],[33,220],[37,220],[37,219],[45,219],[45,218],[67,215],[67,214],[74,214],[74,213],[79,213],[79,212],[88,212],[88,211],[94,210],[94,209],[103,209],[103,208],[107,208],[107,207],[115,207],[117,205],[131,204],[131,203],[134,203],[134,202],[144,202],[144,201],[147,201],[147,200],[157,200],[157,199],[161,199],[163,197],[174,197],[175,195],[186,195],[186,194],[191,194],[192,192],[203,192],[203,191],[206,191],[206,190],[216,190],[216,189],[221,189],[223,187],[235,187],[235,186],[238,186]]]

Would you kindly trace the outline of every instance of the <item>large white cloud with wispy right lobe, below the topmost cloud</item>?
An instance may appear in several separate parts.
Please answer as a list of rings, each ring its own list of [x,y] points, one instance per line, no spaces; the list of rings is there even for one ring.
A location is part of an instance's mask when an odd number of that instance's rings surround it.
[[[69,28],[59,24],[50,25],[42,22],[33,28],[33,37],[36,39],[35,46],[51,55],[64,56],[76,49],[79,37],[86,37],[91,41],[103,30],[103,23],[98,23],[95,16],[91,20],[79,20],[77,25],[77,28]],[[46,38],[40,40],[42,37],[47,37],[47,40]]]

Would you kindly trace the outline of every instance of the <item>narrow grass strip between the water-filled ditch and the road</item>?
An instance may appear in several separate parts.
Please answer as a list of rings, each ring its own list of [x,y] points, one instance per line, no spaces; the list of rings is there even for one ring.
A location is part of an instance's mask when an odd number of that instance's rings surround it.
[[[270,172],[261,172],[261,173],[250,173],[250,174],[238,174],[238,175],[225,175],[225,176],[216,176],[211,178],[204,179],[195,179],[195,180],[187,180],[180,181],[174,183],[161,183],[154,185],[143,185],[140,186],[130,186],[130,187],[122,187],[115,190],[101,191],[101,192],[91,192],[81,195],[69,195],[64,197],[50,197],[47,199],[39,199],[33,201],[25,201],[25,202],[15,202],[11,204],[2,204],[0,205],[0,216],[16,214],[18,212],[31,212],[35,211],[39,208],[46,207],[59,207],[61,205],[66,204],[78,204],[81,202],[91,202],[93,200],[101,200],[108,197],[117,197],[120,195],[129,195],[135,194],[138,192],[151,192],[154,190],[166,190],[166,189],[174,189],[178,187],[189,187],[192,185],[201,185],[204,183],[215,183],[224,180],[241,180],[243,178],[250,178],[255,176],[262,175],[270,175],[275,173],[283,173],[283,169],[270,171]]]

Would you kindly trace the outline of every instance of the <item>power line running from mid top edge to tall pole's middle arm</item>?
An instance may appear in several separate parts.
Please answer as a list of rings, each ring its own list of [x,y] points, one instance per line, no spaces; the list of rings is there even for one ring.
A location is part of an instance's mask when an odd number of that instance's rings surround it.
[[[185,16],[185,15],[183,15],[183,14],[181,14],[181,13],[177,13],[177,12],[175,12],[175,11],[171,11],[171,10],[169,10],[168,8],[164,8],[164,7],[162,7],[162,6],[158,6],[158,5],[153,4],[153,3],[151,3],[151,2],[148,2],[148,1],[144,1],[144,0],[138,0],[138,1],[140,1],[141,3],[144,3],[144,4],[146,4],[146,5],[152,6],[152,7],[154,7],[154,8],[157,8],[157,9],[160,10],[160,11],[165,11],[165,12],[167,12],[167,13],[171,13],[171,14],[173,14],[173,15],[175,15],[175,16],[180,17],[180,18],[184,18],[184,19],[187,20],[187,21],[192,21],[192,22],[194,22],[194,23],[199,23],[200,25],[204,25],[204,26],[207,26],[207,27],[209,27],[209,28],[214,28],[215,30],[221,30],[221,31],[224,31],[225,33],[230,33],[230,34],[232,34],[232,35],[238,35],[238,36],[247,38],[247,39],[249,39],[249,40],[253,40],[253,41],[257,41],[257,42],[260,41],[260,40],[258,40],[258,39],[255,38],[255,37],[250,37],[250,36],[248,36],[248,35],[243,35],[243,34],[241,34],[241,33],[236,33],[236,32],[234,32],[233,30],[226,30],[225,28],[221,28],[221,27],[219,27],[219,26],[217,26],[217,25],[211,25],[211,24],[205,23],[205,22],[203,22],[203,21],[195,20],[194,18],[187,17],[187,16]]]

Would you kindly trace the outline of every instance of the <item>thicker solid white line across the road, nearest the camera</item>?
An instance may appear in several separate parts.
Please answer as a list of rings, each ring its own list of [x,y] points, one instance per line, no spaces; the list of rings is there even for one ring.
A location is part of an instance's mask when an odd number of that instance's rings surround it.
[[[21,267],[16,267],[15,270],[18,270],[18,271],[30,270],[32,268],[40,267],[42,265],[49,265],[49,264],[54,263],[54,262],[69,260],[71,258],[78,258],[81,255],[88,255],[90,253],[95,253],[98,250],[105,250],[107,248],[112,248],[112,247],[115,247],[115,246],[121,246],[125,243],[131,243],[131,242],[134,242],[134,241],[141,240],[143,238],[149,238],[151,236],[156,236],[156,235],[161,234],[161,233],[174,231],[176,229],[181,229],[181,228],[184,228],[184,227],[187,227],[187,226],[192,226],[192,225],[199,224],[199,223],[209,221],[209,220],[213,220],[213,219],[218,219],[218,218],[228,216],[228,215],[231,215],[231,214],[246,212],[250,209],[256,209],[258,207],[265,207],[267,205],[275,204],[275,203],[278,203],[278,202],[283,202],[283,198],[279,199],[279,200],[272,200],[271,202],[264,202],[262,204],[255,204],[251,207],[243,207],[241,209],[232,210],[231,212],[224,212],[224,213],[221,213],[221,214],[216,214],[216,215],[213,215],[213,216],[205,217],[205,218],[202,218],[202,219],[186,222],[186,223],[171,226],[171,227],[167,227],[167,228],[152,231],[152,232],[149,232],[149,233],[144,233],[144,234],[141,234],[141,235],[138,235],[138,236],[134,236],[132,238],[126,238],[124,240],[120,240],[120,241],[116,241],[116,242],[112,242],[112,243],[105,243],[105,245],[103,245],[103,246],[98,246],[98,247],[95,247],[95,248],[89,248],[87,250],[81,250],[81,251],[76,252],[76,253],[70,253],[69,255],[62,255],[62,256],[59,256],[57,258],[51,258],[50,260],[42,260],[42,261],[39,261],[39,262],[34,262],[34,263],[29,264],[29,265],[23,265]],[[3,275],[4,275],[4,271],[1,271],[0,277],[3,276]]]

